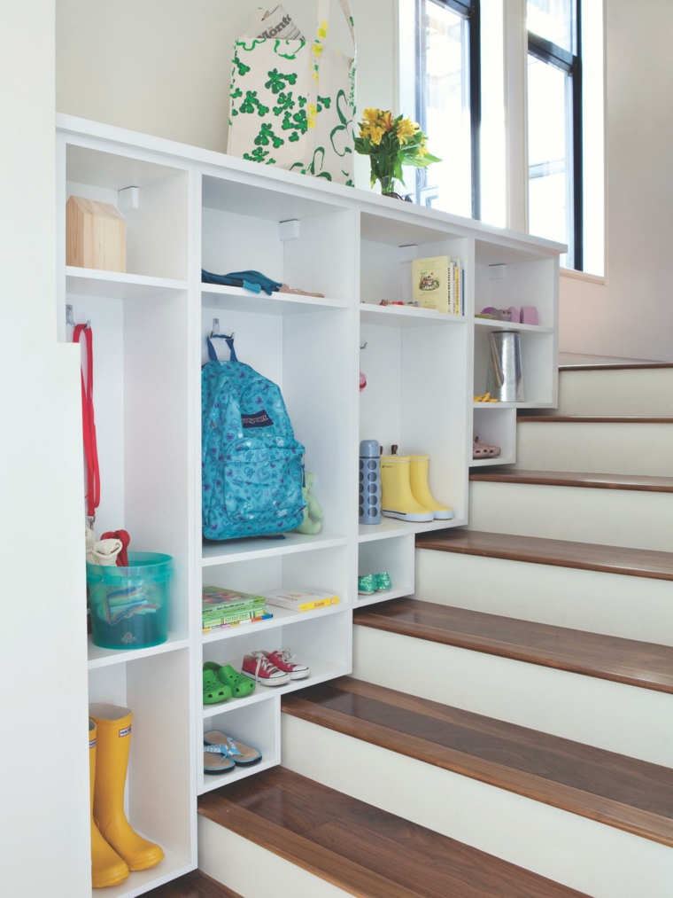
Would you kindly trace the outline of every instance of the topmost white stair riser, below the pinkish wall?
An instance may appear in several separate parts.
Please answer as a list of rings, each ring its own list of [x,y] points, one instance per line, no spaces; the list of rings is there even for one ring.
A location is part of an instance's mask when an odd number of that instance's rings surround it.
[[[562,371],[558,401],[551,414],[673,418],[673,368]]]

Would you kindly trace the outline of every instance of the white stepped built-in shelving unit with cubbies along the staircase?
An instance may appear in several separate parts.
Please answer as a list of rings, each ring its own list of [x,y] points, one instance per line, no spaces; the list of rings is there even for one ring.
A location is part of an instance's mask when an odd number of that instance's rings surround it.
[[[503,445],[499,462],[514,460],[517,407],[472,401],[484,392],[485,340],[499,327],[476,319],[476,311],[538,306],[540,327],[520,328],[529,390],[521,407],[555,402],[563,247],[70,117],[58,120],[57,178],[58,337],[71,339],[66,304],[94,332],[102,483],[96,528],[124,527],[132,548],[175,559],[169,640],[123,652],[89,647],[91,700],[135,714],[129,819],[166,853],[158,867],[109,890],[129,898],[196,866],[197,795],[281,761],[281,696],[351,671],[354,609],[413,594],[415,534],[468,522],[473,427]],[[66,269],[68,196],[117,205],[118,190],[129,186],[138,187],[139,206],[125,213],[128,272]],[[280,227],[287,221],[299,223],[292,240]],[[411,260],[442,253],[462,260],[465,316],[380,305],[410,298]],[[489,278],[494,264],[507,266],[506,278]],[[202,268],[258,269],[324,296],[205,285]],[[202,537],[200,368],[214,318],[221,332],[235,333],[240,360],[283,389],[325,513],[316,536]],[[361,369],[368,380],[362,393]],[[433,495],[453,507],[454,518],[359,525],[358,444],[365,438],[386,453],[398,445],[403,454],[430,455]],[[357,576],[382,571],[392,590],[358,596]],[[305,614],[272,609],[268,621],[203,634],[202,585],[246,592],[312,586],[336,592],[340,603]],[[76,601],[84,607],[83,596]],[[203,704],[204,661],[236,666],[254,649],[279,647],[306,661],[310,677]],[[206,729],[255,745],[262,762],[205,775]]]

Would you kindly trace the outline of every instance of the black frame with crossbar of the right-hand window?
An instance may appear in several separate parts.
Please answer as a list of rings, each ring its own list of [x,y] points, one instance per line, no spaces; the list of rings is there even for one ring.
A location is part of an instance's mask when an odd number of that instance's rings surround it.
[[[582,149],[582,66],[581,66],[581,0],[574,0],[573,52],[559,47],[551,40],[528,32],[529,54],[540,62],[555,66],[569,76],[572,99],[570,127],[572,128],[572,268],[584,267],[584,178]],[[529,166],[530,180],[530,166]]]

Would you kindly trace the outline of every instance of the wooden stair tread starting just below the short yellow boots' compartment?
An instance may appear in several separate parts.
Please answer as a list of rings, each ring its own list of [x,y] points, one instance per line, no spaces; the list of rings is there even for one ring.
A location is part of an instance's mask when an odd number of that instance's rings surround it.
[[[673,580],[673,552],[601,546],[592,542],[546,540],[538,536],[454,528],[419,534],[416,537],[416,549],[527,561],[556,568],[596,570],[608,574],[623,574],[626,577]]]

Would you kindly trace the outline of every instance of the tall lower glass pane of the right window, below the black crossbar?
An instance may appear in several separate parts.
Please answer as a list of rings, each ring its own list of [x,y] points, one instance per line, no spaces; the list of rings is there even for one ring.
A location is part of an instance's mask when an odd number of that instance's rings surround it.
[[[568,91],[564,72],[529,55],[529,232],[570,245]]]

